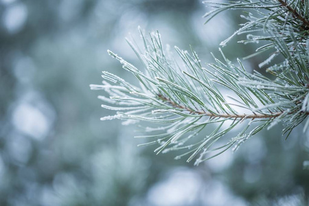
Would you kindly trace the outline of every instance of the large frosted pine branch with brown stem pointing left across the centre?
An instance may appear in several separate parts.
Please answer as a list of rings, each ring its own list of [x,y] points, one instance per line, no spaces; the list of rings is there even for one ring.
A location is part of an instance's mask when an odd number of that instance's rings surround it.
[[[139,71],[117,54],[108,51],[108,54],[122,63],[124,69],[133,73],[139,80],[140,87],[112,73],[104,72],[102,77],[115,85],[103,82],[103,85],[91,85],[91,88],[104,89],[111,95],[111,99],[102,96],[100,99],[115,105],[102,105],[104,108],[117,111],[116,115],[103,117],[102,120],[126,119],[125,124],[149,122],[167,125],[158,128],[148,126],[144,129],[145,133],[159,132],[159,134],[139,136],[139,138],[155,139],[141,145],[159,144],[156,153],[187,149],[187,152],[177,156],[176,159],[190,155],[187,161],[191,161],[200,154],[196,159],[197,165],[205,159],[216,157],[233,145],[237,149],[240,144],[263,128],[271,128],[278,122],[285,122],[286,130],[283,133],[289,134],[308,115],[308,87],[293,84],[290,79],[280,76],[280,73],[274,73],[278,77],[275,81],[260,73],[247,73],[240,60],[238,60],[240,67],[236,67],[225,58],[224,54],[222,56],[225,62],[215,58],[216,64],[209,64],[207,65],[209,69],[206,69],[201,66],[193,50],[191,56],[188,52],[175,47],[185,65],[179,67],[179,63],[176,63],[179,60],[172,58],[172,54],[163,49],[159,33],[150,34],[149,39],[142,32],[141,36],[145,52],[144,54],[137,52],[137,56],[145,65],[145,72]],[[136,45],[130,41],[128,43],[133,50],[138,50]],[[225,100],[216,84],[229,89],[229,93],[234,93],[234,97],[230,98],[237,103],[232,104]],[[258,106],[259,104],[262,106]],[[230,105],[245,108],[251,113],[240,114]],[[250,122],[242,132],[227,144],[216,147],[221,137],[232,133],[233,128],[245,119],[249,119]],[[215,124],[220,125],[206,138],[197,142],[191,140],[193,137],[201,138],[198,133]],[[222,129],[223,124],[229,126]],[[211,152],[214,152],[214,155],[209,157]]]

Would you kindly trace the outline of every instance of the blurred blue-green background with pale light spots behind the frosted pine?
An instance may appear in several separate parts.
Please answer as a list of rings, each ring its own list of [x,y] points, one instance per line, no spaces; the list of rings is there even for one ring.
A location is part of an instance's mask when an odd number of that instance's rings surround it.
[[[124,38],[139,41],[140,25],[211,62],[244,21],[233,11],[203,25],[208,10],[201,0],[0,0],[0,205],[308,204],[301,126],[286,141],[276,126],[194,167],[137,148],[135,126],[100,121],[113,113],[89,84],[102,71],[133,79],[106,50],[138,65]],[[257,46],[237,40],[224,48],[231,60]]]

